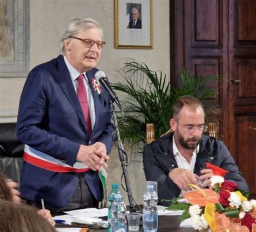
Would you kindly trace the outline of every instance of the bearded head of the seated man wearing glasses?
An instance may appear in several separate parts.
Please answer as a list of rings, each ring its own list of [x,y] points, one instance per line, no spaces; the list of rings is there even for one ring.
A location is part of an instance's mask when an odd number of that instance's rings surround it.
[[[176,143],[187,150],[196,149],[205,132],[203,104],[193,96],[182,96],[173,104],[170,126]]]

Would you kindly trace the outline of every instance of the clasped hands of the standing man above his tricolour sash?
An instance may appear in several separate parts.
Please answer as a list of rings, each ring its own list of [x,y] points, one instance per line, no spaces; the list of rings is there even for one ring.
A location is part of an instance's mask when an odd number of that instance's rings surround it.
[[[80,145],[77,154],[77,160],[88,165],[93,171],[100,171],[100,166],[107,167],[105,160],[108,159],[106,146],[100,142],[88,146]]]

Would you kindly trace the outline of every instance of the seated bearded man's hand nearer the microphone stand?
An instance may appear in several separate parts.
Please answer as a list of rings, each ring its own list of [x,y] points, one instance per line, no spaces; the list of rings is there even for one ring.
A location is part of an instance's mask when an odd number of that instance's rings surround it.
[[[173,168],[169,173],[169,177],[181,190],[189,189],[188,184],[196,185],[199,180],[198,175],[184,168]]]

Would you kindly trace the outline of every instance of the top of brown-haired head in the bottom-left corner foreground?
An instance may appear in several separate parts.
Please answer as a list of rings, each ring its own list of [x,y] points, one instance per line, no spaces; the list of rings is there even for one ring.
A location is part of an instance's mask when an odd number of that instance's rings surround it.
[[[0,200],[1,231],[12,232],[55,232],[46,219],[37,214],[37,210],[26,205],[16,205],[7,200]]]

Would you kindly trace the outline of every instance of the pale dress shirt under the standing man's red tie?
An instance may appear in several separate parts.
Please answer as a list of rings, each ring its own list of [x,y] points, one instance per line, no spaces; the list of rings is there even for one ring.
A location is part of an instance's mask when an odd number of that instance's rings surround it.
[[[89,86],[89,80],[87,79],[87,76],[86,76],[86,72],[79,73],[70,64],[68,59],[66,59],[65,55],[64,55],[64,61],[65,61],[66,66],[69,69],[69,74],[71,76],[71,80],[72,80],[72,83],[73,83],[73,86],[75,88],[76,93],[77,93],[77,88],[78,88],[78,80],[77,80],[77,78],[78,78],[78,76],[80,74],[84,74],[84,77],[85,77],[84,78],[84,85],[85,85],[86,92],[87,92],[87,100],[88,100],[88,104],[89,104],[89,111],[90,111],[91,124],[92,124],[92,130],[93,130],[93,126],[95,125],[95,105],[94,105],[94,100],[93,100],[92,93],[91,93],[91,88]]]

